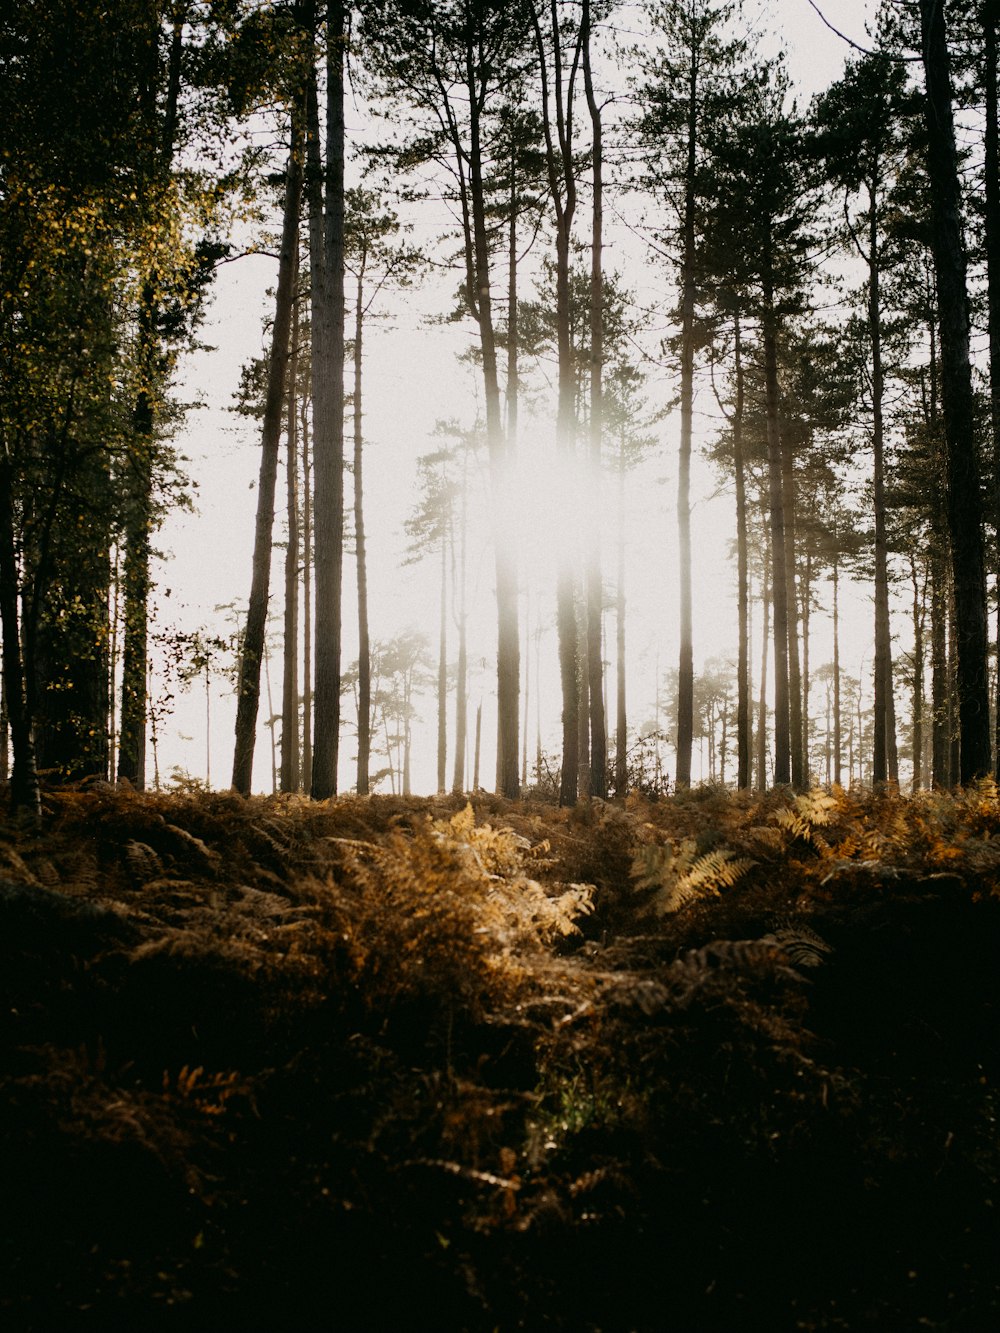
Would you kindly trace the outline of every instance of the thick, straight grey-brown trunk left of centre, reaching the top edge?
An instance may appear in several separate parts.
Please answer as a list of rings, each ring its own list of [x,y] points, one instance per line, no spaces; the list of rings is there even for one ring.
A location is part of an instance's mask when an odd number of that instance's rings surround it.
[[[344,5],[327,3],[325,161],[315,81],[309,127],[316,643],[312,796],[337,790],[344,568]],[[313,69],[315,80],[315,69]]]

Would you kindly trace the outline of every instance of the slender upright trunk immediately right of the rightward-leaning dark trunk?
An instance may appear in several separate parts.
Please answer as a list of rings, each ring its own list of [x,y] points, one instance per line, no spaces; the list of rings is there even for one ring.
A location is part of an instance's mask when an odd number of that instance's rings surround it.
[[[296,288],[299,253],[296,247]],[[281,790],[299,790],[299,295],[292,300],[292,351],[285,412],[285,547],[284,655],[281,664]]]

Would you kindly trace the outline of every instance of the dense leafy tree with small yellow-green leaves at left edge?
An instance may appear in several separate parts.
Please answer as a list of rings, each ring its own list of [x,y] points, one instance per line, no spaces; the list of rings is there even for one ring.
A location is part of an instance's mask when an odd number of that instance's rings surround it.
[[[156,521],[153,488],[161,499],[176,477],[167,380],[212,267],[192,239],[211,217],[201,179],[191,172],[185,193],[167,169],[183,17],[179,5],[91,13],[57,0],[0,19],[0,615],[15,805],[36,805],[36,746],[61,776],[107,773],[111,545],[123,537],[120,753],[127,768],[136,757],[148,593],[136,533]]]

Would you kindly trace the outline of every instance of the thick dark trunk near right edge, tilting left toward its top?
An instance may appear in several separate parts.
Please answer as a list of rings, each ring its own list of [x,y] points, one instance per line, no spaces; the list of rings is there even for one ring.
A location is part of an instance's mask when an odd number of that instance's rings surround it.
[[[920,0],[927,85],[925,119],[933,225],[937,311],[941,327],[944,433],[948,447],[948,520],[955,576],[957,694],[961,736],[960,780],[991,772],[987,676],[987,595],[983,504],[976,457],[969,308],[961,237],[952,84],[944,7]]]

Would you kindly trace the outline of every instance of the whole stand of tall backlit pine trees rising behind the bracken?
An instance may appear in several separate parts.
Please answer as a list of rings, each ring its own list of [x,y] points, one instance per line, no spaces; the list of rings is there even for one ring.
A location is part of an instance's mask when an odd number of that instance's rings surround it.
[[[437,704],[437,786],[479,784],[468,515],[483,485],[496,789],[517,797],[532,772],[541,780],[539,718],[533,765],[528,742],[540,627],[513,539],[531,409],[552,419],[577,504],[573,531],[553,528],[547,571],[559,798],[623,794],[641,741],[624,688],[625,495],[660,447],[663,413],[647,404],[663,387],[679,428],[679,559],[663,572],[677,587],[679,655],[657,681],[675,784],[693,780],[703,741],[708,774],[739,788],[897,782],[904,746],[913,786],[996,772],[996,0],[889,0],[867,48],[805,109],[783,59],[760,57],[727,0],[649,0],[637,45],[619,11],[55,0],[0,17],[0,629],[15,806],[37,808],[39,772],[145,782],[155,539],[188,503],[173,372],[235,219],[275,201],[269,352],[240,391],[261,461],[236,790],[252,782],[279,493],[275,784],[335,794],[349,721],[353,788],[407,790],[424,688]],[[348,79],[392,124],[381,141],[348,141]],[[240,147],[252,117],[277,132],[280,169],[273,152]],[[364,188],[345,184],[352,161]],[[443,424],[420,460],[408,540],[411,559],[439,568],[429,666],[423,637],[372,636],[365,523],[365,340],[380,301],[427,271],[405,224],[420,197],[452,219],[455,317],[475,329],[483,407],[479,421]],[[675,292],[656,331],[628,275],[608,267],[608,199],[651,220],[649,263]],[[735,503],[737,615],[731,661],[699,676],[691,472],[707,392],[720,423],[708,452]],[[603,531],[616,532],[613,553]],[[351,568],[359,656],[345,664]],[[848,577],[872,589],[871,706],[840,661]],[[833,659],[816,665],[820,611]],[[900,652],[904,615],[912,651]]]

